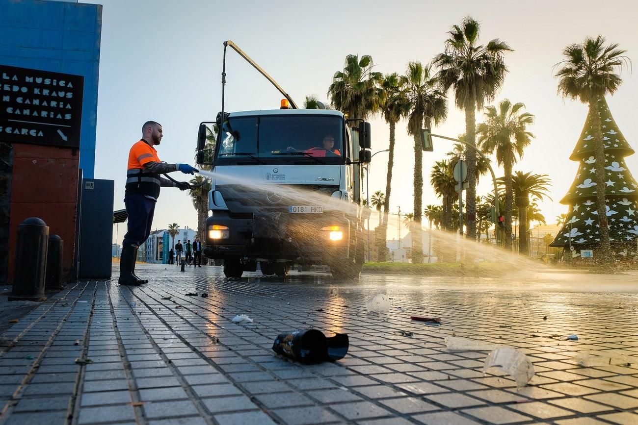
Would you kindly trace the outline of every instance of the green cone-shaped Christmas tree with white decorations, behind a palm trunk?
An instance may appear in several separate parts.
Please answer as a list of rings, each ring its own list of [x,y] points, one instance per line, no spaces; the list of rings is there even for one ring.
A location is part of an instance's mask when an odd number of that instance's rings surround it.
[[[596,159],[591,112],[581,137],[569,157],[579,161],[578,173],[561,204],[569,205],[567,218],[551,247],[574,247],[574,256],[581,250],[597,249],[600,241],[596,193],[605,191],[609,241],[618,256],[634,256],[638,241],[638,185],[625,164],[625,157],[634,154],[614,122],[604,97],[599,97],[598,115],[605,148],[605,182],[596,181]],[[595,254],[594,254],[595,255]]]

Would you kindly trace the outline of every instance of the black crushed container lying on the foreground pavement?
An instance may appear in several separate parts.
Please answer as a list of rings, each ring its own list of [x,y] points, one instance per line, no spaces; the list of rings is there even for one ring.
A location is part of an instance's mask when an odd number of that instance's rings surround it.
[[[272,350],[300,363],[336,361],[348,354],[348,335],[338,333],[326,338],[318,329],[297,330],[279,334]]]

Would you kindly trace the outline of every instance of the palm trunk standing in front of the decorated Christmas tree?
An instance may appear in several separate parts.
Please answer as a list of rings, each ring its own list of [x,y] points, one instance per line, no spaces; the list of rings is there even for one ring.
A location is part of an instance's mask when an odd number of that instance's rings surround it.
[[[600,224],[600,264],[608,265],[612,262],[611,247],[609,246],[609,227],[607,226],[607,208],[605,208],[605,143],[602,141],[600,115],[598,115],[597,97],[590,101],[590,117],[592,120],[593,136],[596,144],[596,206],[598,224]]]

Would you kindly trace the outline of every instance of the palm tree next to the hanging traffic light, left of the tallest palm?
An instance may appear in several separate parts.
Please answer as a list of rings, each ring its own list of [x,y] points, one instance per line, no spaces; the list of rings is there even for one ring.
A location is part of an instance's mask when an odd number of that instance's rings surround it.
[[[414,136],[414,237],[412,238],[412,263],[423,263],[423,241],[421,239],[421,213],[423,197],[423,128],[429,129],[431,122],[438,124],[447,117],[447,101],[439,88],[438,78],[433,75],[432,65],[421,62],[408,63],[408,70],[401,77],[405,94],[410,104],[408,112],[408,134]]]

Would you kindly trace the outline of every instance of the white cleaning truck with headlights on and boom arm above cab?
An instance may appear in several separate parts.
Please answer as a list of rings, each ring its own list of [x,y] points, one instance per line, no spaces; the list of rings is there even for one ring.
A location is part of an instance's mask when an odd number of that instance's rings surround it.
[[[286,97],[274,110],[223,111],[203,122],[197,162],[212,165],[204,255],[223,259],[226,277],[244,271],[284,276],[292,264],[327,264],[358,278],[364,262],[362,164],[370,126],[335,110],[300,110]],[[225,76],[225,66],[224,73]],[[208,129],[207,129],[208,127]],[[206,135],[216,134],[214,152]]]

